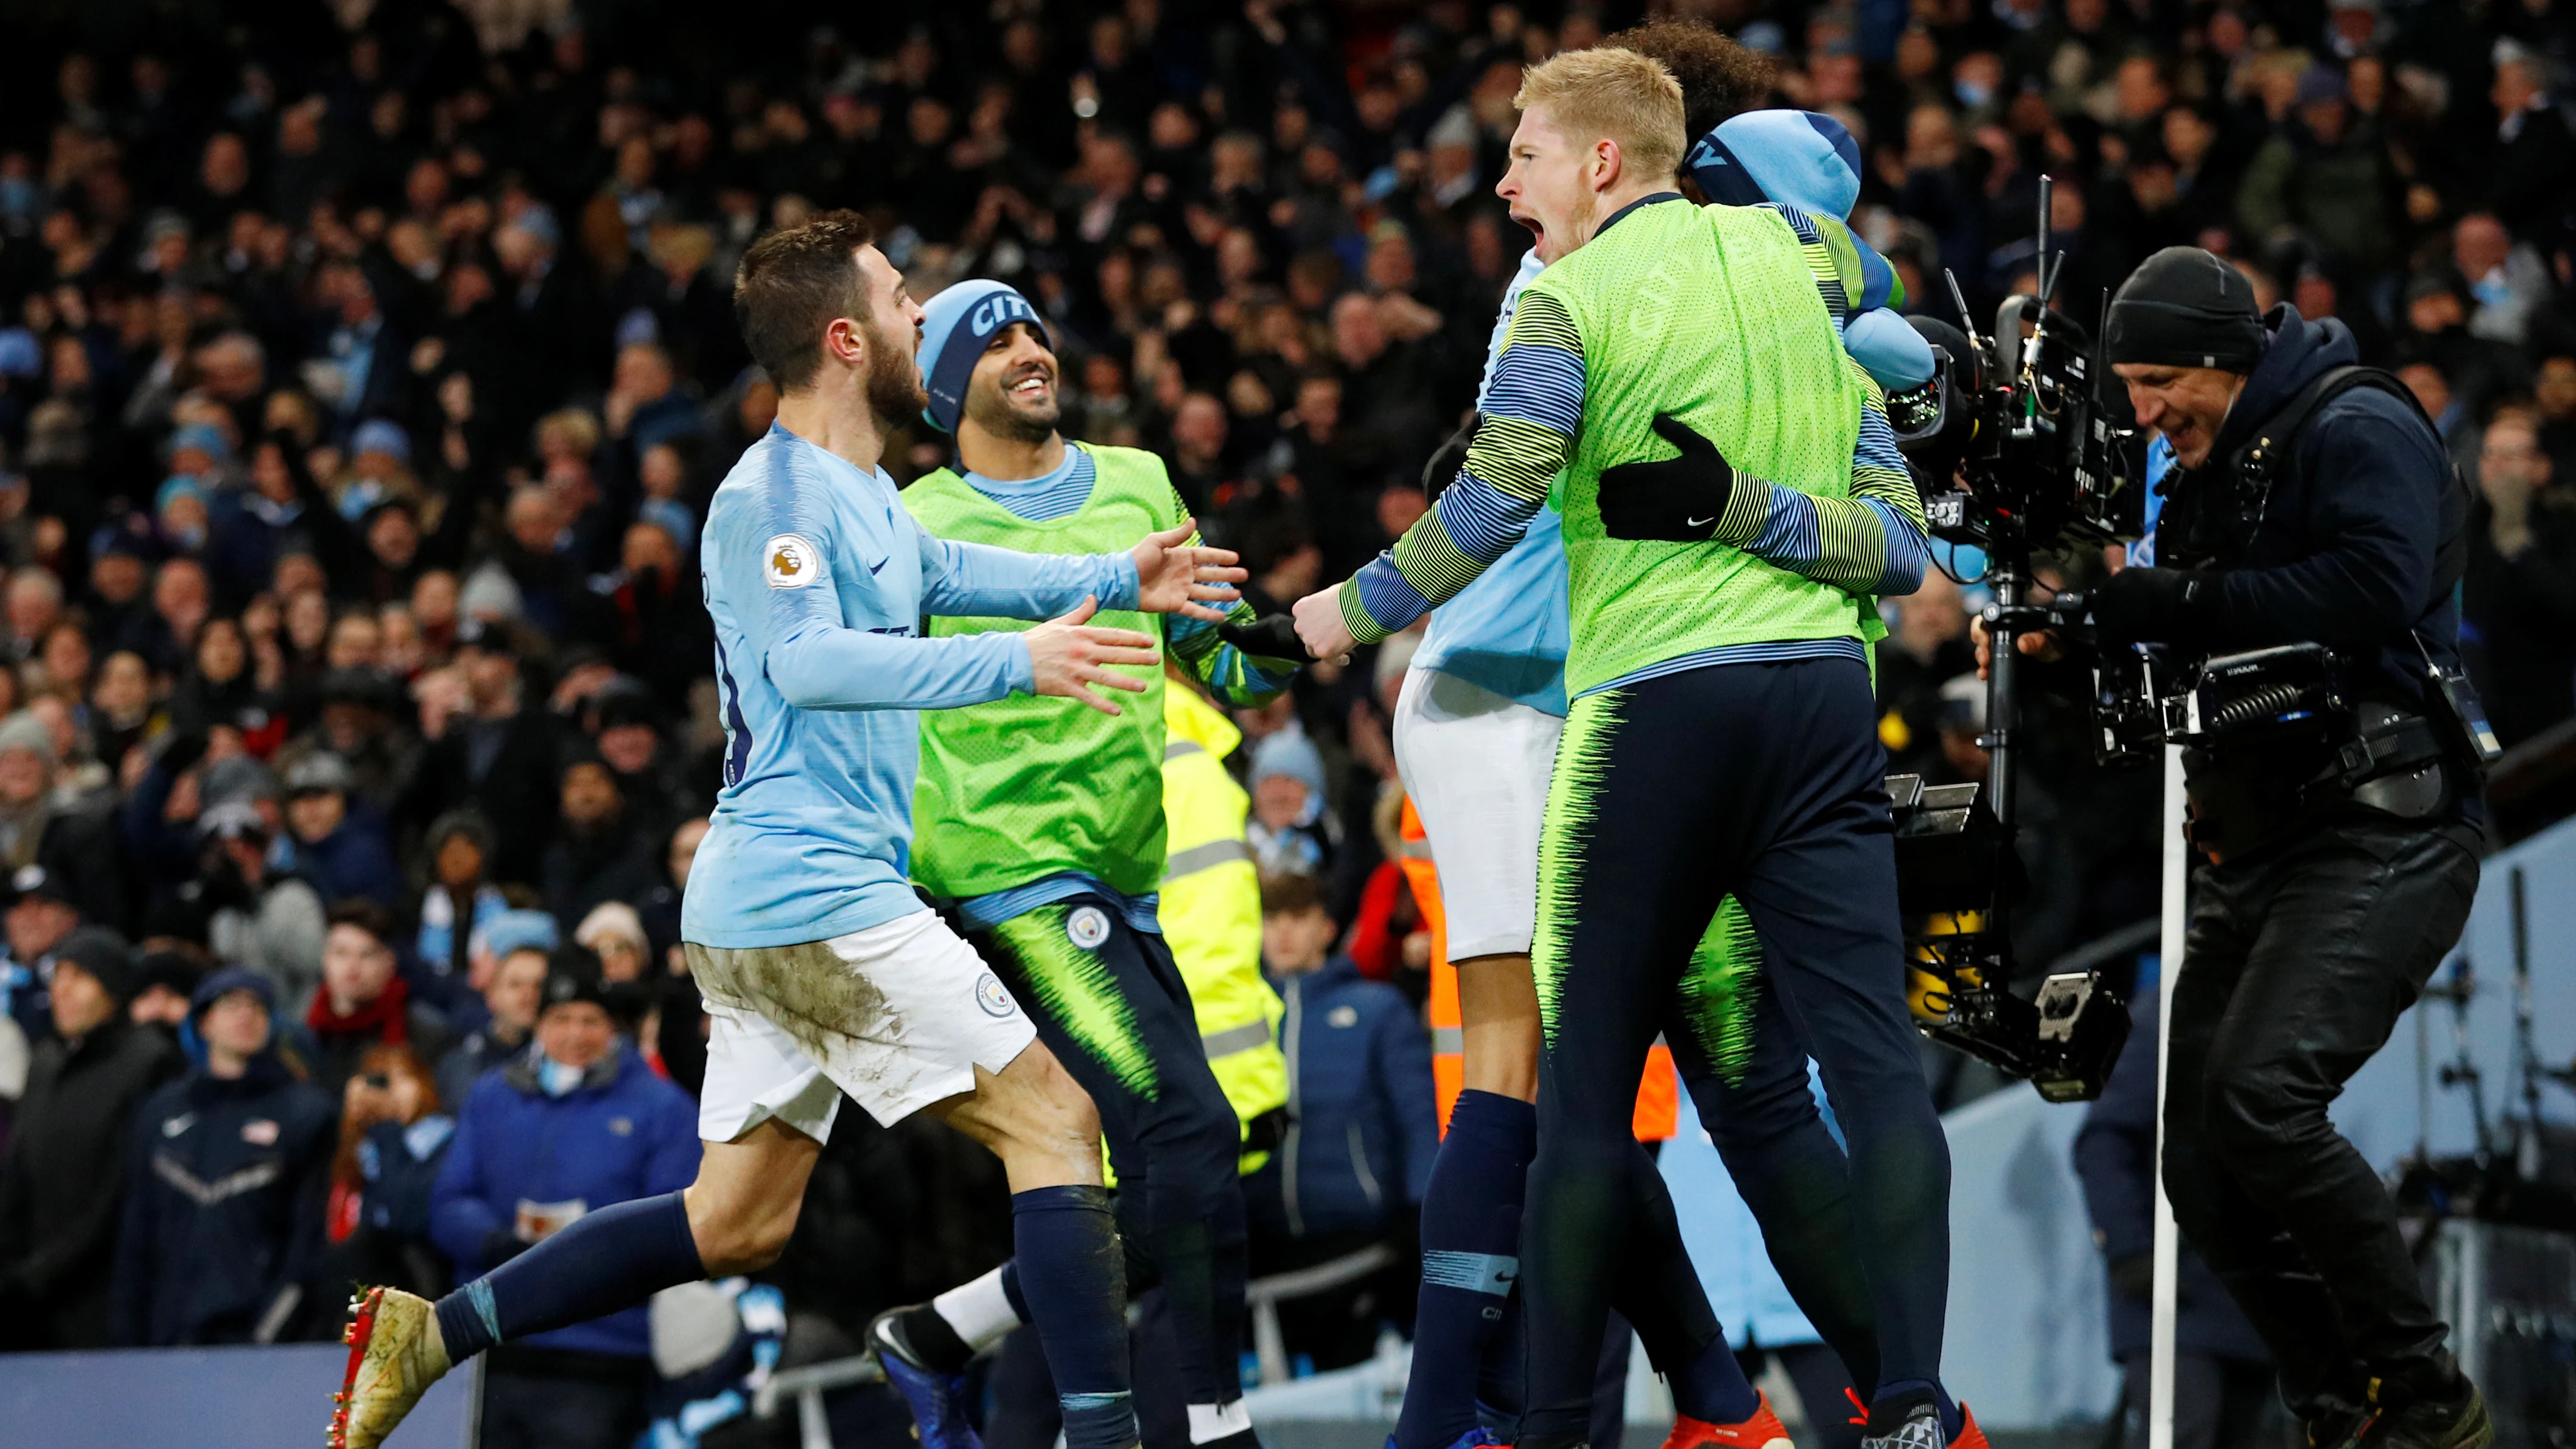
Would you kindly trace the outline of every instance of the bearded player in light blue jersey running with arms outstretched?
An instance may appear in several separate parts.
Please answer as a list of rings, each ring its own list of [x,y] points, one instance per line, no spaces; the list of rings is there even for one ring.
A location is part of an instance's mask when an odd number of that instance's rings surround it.
[[[907,880],[917,710],[1043,692],[1115,713],[1097,690],[1144,682],[1113,667],[1157,654],[1144,633],[1090,625],[1095,607],[1216,620],[1198,600],[1234,600],[1244,574],[1182,543],[1188,522],[1095,556],[925,535],[878,468],[886,430],[922,407],[922,309],[858,214],[755,242],[734,317],[781,399],[701,546],[726,754],[680,927],[714,1032],[698,1179],[580,1217],[435,1305],[363,1295],[332,1449],[381,1444],[492,1343],[775,1261],[842,1091],[878,1122],[927,1109],[1002,1158],[1066,1444],[1136,1444],[1100,1120]],[[943,613],[1048,623],[920,638]]]

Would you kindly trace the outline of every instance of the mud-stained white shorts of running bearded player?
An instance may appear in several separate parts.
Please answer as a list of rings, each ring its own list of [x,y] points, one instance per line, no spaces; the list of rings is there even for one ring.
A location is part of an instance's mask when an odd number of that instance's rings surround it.
[[[698,1094],[708,1143],[765,1117],[819,1143],[845,1091],[891,1127],[1038,1040],[1002,978],[930,911],[793,947],[690,942],[688,970],[711,1027]]]

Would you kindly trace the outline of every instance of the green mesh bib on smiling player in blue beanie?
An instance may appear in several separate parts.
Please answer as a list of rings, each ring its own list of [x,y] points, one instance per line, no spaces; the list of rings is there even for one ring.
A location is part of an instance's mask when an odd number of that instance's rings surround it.
[[[1182,517],[1151,453],[1087,448],[1097,466],[1079,512],[1030,522],[940,468],[904,489],[904,507],[940,538],[1025,553],[1115,553]],[[1092,623],[1162,638],[1162,615],[1100,610]],[[933,618],[933,638],[1025,631],[1015,618]],[[971,898],[1079,870],[1144,896],[1162,883],[1162,669],[1113,695],[1123,713],[1079,700],[1010,695],[963,710],[922,710],[922,772],[912,793],[912,880]]]

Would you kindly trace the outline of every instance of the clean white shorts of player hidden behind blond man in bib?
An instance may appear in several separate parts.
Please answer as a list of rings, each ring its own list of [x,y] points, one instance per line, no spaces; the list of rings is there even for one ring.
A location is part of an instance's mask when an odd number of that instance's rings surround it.
[[[1538,829],[1566,721],[1437,669],[1406,669],[1396,772],[1422,816],[1448,957],[1530,955]]]

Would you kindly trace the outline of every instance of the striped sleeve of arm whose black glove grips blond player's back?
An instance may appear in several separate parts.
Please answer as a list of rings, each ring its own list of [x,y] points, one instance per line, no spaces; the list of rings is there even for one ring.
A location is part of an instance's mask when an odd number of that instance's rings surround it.
[[[1844,358],[1847,368],[1860,363]],[[1736,492],[1718,520],[1718,543],[1852,595],[1911,595],[1924,582],[1932,546],[1922,499],[1886,401],[1862,373],[1860,438],[1852,445],[1852,497],[1821,499],[1785,484],[1736,474]]]

